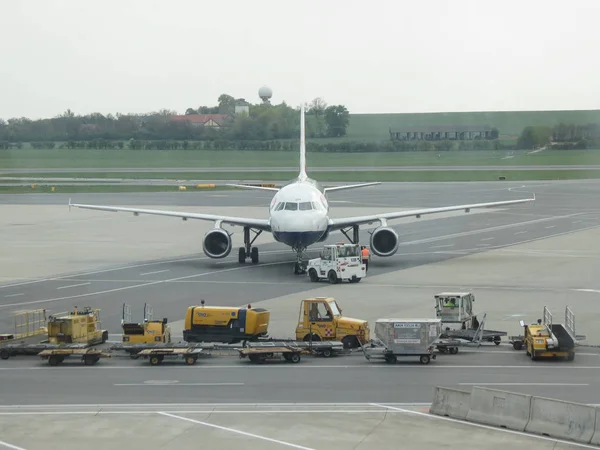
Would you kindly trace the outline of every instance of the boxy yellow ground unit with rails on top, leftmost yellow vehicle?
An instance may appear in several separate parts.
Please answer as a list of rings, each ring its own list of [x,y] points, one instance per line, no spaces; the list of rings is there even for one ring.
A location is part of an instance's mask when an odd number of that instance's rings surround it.
[[[48,318],[50,344],[102,344],[108,340],[108,331],[100,328],[100,310],[86,306],[71,312],[53,314]]]

